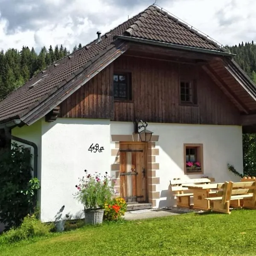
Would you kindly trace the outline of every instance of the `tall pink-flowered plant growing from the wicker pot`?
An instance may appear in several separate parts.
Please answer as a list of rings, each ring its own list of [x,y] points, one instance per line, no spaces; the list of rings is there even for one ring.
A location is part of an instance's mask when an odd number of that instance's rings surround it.
[[[84,209],[104,209],[105,202],[111,201],[114,194],[111,177],[100,174],[90,175],[84,170],[86,176],[79,179],[79,185],[76,185],[78,192],[75,198],[84,205]]]

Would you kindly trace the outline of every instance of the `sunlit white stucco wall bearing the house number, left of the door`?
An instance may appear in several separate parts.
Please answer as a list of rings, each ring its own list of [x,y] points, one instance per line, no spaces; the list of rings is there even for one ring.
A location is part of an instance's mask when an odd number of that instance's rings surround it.
[[[84,170],[110,175],[110,121],[58,118],[42,121],[41,220],[54,221],[58,215],[83,218],[83,207],[73,194]],[[104,147],[91,153],[91,144]],[[64,210],[62,207],[64,206]]]

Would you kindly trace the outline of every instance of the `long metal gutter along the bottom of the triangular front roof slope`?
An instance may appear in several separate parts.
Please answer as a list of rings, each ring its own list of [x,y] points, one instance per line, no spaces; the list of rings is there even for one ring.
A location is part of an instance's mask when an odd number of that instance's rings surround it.
[[[119,38],[119,39],[126,40],[126,41],[131,41],[131,42],[151,44],[151,45],[157,45],[157,46],[168,47],[168,48],[173,48],[173,49],[187,50],[187,51],[192,51],[192,52],[202,52],[202,53],[209,53],[209,54],[229,56],[229,57],[236,56],[236,54],[229,53],[229,52],[220,52],[220,51],[216,51],[216,50],[202,49],[202,48],[198,48],[198,47],[170,44],[170,43],[158,42],[158,41],[153,41],[153,40],[148,40],[148,39],[143,39],[143,38],[134,38],[134,37],[125,36],[125,35],[116,35],[115,38]]]

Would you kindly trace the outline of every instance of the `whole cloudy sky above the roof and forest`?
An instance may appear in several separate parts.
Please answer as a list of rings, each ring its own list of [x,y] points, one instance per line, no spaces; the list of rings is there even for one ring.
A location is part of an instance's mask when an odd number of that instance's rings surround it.
[[[154,0],[0,0],[0,49],[87,44]],[[256,41],[255,0],[157,0],[221,44]]]

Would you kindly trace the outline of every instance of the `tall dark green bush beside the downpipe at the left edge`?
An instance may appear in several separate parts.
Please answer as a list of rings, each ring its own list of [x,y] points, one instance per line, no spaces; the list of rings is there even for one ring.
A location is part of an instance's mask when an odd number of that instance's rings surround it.
[[[0,222],[6,229],[18,227],[33,212],[39,180],[31,175],[31,154],[23,146],[12,144],[0,149]]]

